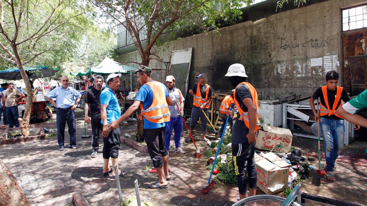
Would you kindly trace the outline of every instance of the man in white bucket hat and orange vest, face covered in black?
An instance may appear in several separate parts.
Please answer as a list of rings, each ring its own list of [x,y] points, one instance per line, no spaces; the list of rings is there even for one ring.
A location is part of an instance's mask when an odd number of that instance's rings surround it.
[[[240,193],[238,200],[240,200],[256,194],[257,173],[254,154],[255,132],[260,125],[259,103],[256,89],[246,80],[247,75],[243,65],[229,66],[225,76],[229,77],[230,83],[236,88],[233,92],[235,107],[231,111],[227,110],[227,115],[235,120],[232,128],[232,155]]]

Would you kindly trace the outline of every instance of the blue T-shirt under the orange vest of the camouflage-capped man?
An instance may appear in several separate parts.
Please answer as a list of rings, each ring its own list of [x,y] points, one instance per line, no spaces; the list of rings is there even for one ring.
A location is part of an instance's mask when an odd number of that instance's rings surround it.
[[[161,86],[164,88],[166,98],[170,95],[167,92],[166,86],[164,84],[160,83]],[[147,84],[144,84],[140,89],[135,97],[135,100],[138,100],[140,102],[143,102],[143,108],[146,110],[150,107],[153,103],[153,91],[150,89],[150,87]],[[148,119],[144,118],[144,129],[157,129],[166,126],[166,123],[154,123],[150,122]]]

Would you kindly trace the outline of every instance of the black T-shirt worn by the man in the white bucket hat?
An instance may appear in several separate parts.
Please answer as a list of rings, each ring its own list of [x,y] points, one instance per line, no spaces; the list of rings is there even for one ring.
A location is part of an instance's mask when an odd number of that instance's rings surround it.
[[[236,96],[237,102],[239,103],[241,109],[246,112],[248,111],[247,107],[243,104],[242,100],[244,98],[251,98],[251,93],[248,90],[247,86],[244,84],[240,84],[236,87]],[[232,143],[233,144],[241,144],[247,142],[246,135],[248,134],[248,128],[244,121],[239,120],[240,114],[238,113],[237,106],[235,106],[235,114],[236,117],[233,117],[235,124],[232,129]]]

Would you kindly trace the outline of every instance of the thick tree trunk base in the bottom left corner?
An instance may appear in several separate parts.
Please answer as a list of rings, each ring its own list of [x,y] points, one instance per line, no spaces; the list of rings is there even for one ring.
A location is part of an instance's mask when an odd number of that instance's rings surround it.
[[[29,202],[22,192],[17,179],[0,159],[0,205],[25,206]]]

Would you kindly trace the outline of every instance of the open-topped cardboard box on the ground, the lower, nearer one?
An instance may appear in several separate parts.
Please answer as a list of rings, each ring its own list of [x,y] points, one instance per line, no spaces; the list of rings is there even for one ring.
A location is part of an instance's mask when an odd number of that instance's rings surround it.
[[[266,194],[283,191],[287,186],[290,164],[272,152],[255,154],[257,187]]]

